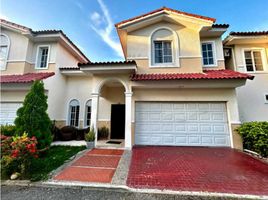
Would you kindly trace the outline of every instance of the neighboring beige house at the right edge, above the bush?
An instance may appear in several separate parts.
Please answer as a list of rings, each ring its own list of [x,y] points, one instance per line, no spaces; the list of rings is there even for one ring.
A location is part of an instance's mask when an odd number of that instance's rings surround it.
[[[240,120],[268,121],[268,31],[231,32],[223,43],[226,67],[255,76],[237,88]]]

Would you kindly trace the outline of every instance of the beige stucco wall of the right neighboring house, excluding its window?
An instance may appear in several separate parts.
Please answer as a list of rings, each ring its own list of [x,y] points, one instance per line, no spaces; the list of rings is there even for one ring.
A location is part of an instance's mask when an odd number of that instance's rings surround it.
[[[268,94],[268,43],[267,44],[240,44],[234,46],[236,70],[246,72],[244,49],[262,49],[263,72],[250,73],[254,80],[247,80],[245,86],[237,88],[239,114],[242,122],[268,121],[268,104],[265,103],[265,94]]]

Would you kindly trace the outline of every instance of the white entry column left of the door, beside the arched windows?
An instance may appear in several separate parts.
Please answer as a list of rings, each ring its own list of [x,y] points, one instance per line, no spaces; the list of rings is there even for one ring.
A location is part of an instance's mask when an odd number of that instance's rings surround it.
[[[98,107],[99,107],[99,93],[91,93],[91,123],[90,128],[95,131],[95,145],[97,144],[97,127],[98,127]]]

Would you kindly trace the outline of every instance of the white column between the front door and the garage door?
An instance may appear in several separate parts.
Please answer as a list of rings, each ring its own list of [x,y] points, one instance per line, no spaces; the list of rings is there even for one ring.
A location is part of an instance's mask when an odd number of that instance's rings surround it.
[[[125,92],[125,105],[126,105],[126,113],[125,113],[125,148],[132,148],[132,136],[131,136],[131,115],[132,115],[132,92]]]

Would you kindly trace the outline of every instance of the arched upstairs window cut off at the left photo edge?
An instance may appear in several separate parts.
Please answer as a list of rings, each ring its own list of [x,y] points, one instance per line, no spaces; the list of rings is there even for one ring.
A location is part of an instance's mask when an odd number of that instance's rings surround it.
[[[0,35],[0,69],[5,70],[7,64],[7,56],[9,51],[9,38],[1,34]]]

